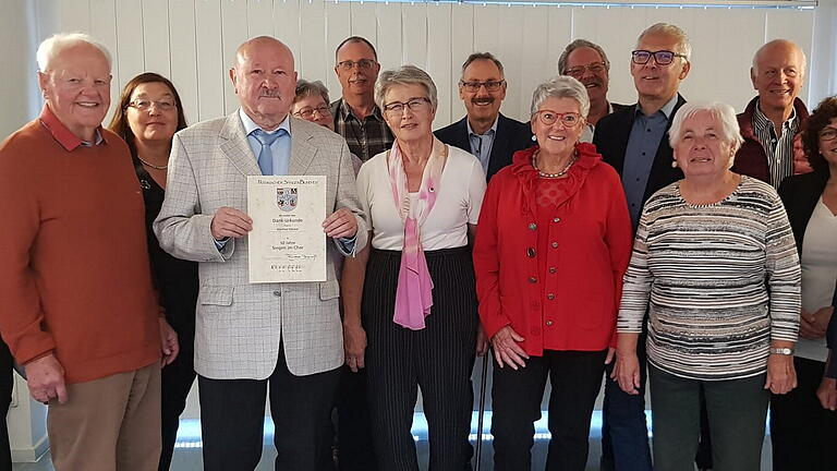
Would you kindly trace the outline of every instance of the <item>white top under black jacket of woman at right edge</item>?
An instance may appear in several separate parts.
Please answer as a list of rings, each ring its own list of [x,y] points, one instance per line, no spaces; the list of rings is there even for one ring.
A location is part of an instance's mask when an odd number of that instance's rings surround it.
[[[823,203],[822,196],[805,227],[802,242],[802,309],[815,312],[832,305],[837,282],[837,216]],[[797,340],[797,355],[824,362],[828,357],[825,338]]]

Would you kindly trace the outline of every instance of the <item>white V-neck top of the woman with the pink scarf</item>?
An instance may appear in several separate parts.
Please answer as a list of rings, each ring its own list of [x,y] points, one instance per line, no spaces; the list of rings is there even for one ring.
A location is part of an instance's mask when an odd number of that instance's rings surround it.
[[[476,225],[480,218],[485,186],[480,160],[460,148],[448,146],[448,159],[436,190],[436,204],[421,227],[425,251],[468,245],[468,225]],[[372,246],[402,250],[404,224],[392,200],[386,152],[361,167],[357,197],[373,231]]]

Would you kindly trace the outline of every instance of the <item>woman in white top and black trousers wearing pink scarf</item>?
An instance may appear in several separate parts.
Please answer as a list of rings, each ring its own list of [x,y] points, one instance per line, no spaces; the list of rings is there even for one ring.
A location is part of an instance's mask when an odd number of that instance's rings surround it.
[[[434,137],[436,85],[424,71],[384,72],[375,102],[396,141],[357,176],[372,249],[343,266],[347,363],[367,370],[378,469],[418,469],[410,427],[421,388],[430,469],[462,471],[478,328],[469,239],[485,174],[474,156]]]

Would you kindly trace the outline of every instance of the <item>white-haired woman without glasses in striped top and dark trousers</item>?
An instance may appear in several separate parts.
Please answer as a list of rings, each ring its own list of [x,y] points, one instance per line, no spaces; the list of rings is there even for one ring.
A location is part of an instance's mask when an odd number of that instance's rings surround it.
[[[703,396],[713,468],[756,471],[771,391],[796,386],[793,234],[773,186],[730,170],[742,142],[732,107],[687,104],[669,135],[684,179],[652,195],[640,217],[614,378],[636,394],[647,313],[654,469],[693,469]]]

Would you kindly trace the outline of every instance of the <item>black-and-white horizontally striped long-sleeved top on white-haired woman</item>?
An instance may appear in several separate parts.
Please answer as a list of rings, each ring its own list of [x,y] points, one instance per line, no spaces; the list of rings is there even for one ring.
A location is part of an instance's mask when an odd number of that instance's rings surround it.
[[[692,205],[672,183],[645,204],[617,329],[640,333],[648,361],[676,376],[762,374],[771,340],[797,340],[800,268],[776,191],[741,177],[726,198]]]

